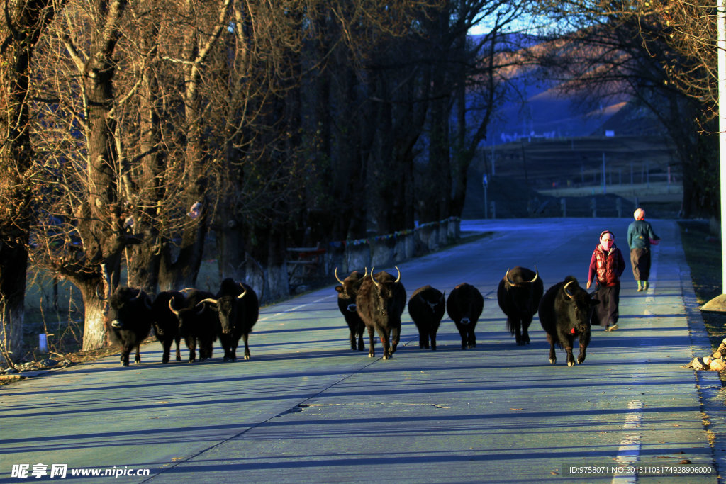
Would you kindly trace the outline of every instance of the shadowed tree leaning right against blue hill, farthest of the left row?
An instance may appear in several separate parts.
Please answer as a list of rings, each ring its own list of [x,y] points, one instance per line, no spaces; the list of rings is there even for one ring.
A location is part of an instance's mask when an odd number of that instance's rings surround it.
[[[428,22],[426,52],[435,67],[423,170],[437,183],[435,189],[424,188],[419,200],[422,221],[461,216],[468,168],[505,94],[505,72],[526,62],[510,52],[520,48],[525,35],[516,21],[528,9],[528,2],[459,0]],[[485,33],[468,38],[479,22],[486,23]]]

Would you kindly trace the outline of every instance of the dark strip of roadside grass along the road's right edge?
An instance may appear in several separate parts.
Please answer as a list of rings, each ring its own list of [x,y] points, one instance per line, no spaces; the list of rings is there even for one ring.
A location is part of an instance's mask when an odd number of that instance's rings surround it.
[[[711,234],[708,222],[680,221],[678,224],[696,300],[703,305],[722,293],[721,243]],[[726,337],[726,313],[703,311],[701,315],[715,350]],[[722,375],[722,382],[724,380]]]

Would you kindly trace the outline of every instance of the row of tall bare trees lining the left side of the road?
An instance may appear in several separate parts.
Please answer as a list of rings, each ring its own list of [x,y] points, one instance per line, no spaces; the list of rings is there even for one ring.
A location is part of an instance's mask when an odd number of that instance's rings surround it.
[[[558,42],[600,45],[597,60],[552,43],[506,54],[531,45],[511,33],[534,7],[558,28],[582,20]],[[590,65],[576,77],[593,82],[587,73],[609,65],[627,79],[618,67],[640,62],[669,79],[672,64],[652,51],[680,52],[672,37],[644,40],[660,30],[643,18],[666,15],[646,2],[4,0],[3,9],[6,356],[20,345],[28,263],[81,291],[84,349],[105,344],[101,297],[122,266],[149,292],[194,286],[210,231],[220,279],[280,298],[289,245],[460,216],[468,166],[511,92],[513,65]],[[469,38],[475,24],[486,35]],[[637,86],[638,76],[635,93],[663,86]],[[678,110],[697,99],[675,87],[642,100],[656,109],[677,99]]]

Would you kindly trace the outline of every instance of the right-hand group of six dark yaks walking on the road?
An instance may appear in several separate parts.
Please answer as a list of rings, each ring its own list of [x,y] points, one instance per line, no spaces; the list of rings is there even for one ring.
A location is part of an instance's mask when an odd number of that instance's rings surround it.
[[[369,336],[368,356],[375,356],[374,335],[378,333],[383,345],[383,359],[393,356],[401,333],[401,314],[406,305],[406,291],[401,284],[401,271],[396,267],[396,278],[386,271],[361,274],[353,271],[345,279],[335,279],[340,285],[338,308],[350,329],[351,349],[364,350],[363,329]],[[579,339],[578,363],[585,358],[590,343],[590,319],[592,308],[598,301],[579,287],[577,280],[568,276],[544,292],[539,271],[515,267],[507,269],[497,288],[497,302],[507,316],[507,329],[518,345],[529,344],[529,325],[539,311],[542,328],[550,343],[550,363],[557,361],[555,345],[567,353],[567,363],[574,366],[572,355],[574,339]],[[476,347],[476,323],[484,309],[484,297],[471,284],[458,284],[446,298],[430,285],[419,287],[408,301],[408,312],[419,333],[419,347],[436,350],[436,332],[439,330],[444,311],[454,321],[461,336],[461,348]]]

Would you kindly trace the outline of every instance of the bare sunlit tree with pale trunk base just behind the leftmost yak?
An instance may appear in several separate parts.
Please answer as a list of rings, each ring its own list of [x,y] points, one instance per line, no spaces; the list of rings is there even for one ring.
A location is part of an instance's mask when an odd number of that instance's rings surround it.
[[[68,4],[62,10],[62,20],[54,25],[57,43],[62,44],[61,50],[75,67],[68,74],[73,72],[77,86],[76,97],[61,98],[58,96],[61,93],[54,94],[60,100],[58,109],[75,115],[73,120],[77,123],[76,130],[81,128],[76,132],[83,136],[84,152],[83,157],[78,157],[79,152],[73,153],[75,159],[70,162],[72,174],[78,178],[66,178],[59,184],[65,190],[62,199],[65,210],[57,213],[57,218],[41,220],[38,227],[46,231],[38,234],[49,234],[47,229],[56,226],[63,229],[60,232],[67,239],[65,243],[71,245],[60,258],[46,261],[81,290],[85,308],[83,349],[105,345],[107,328],[102,300],[97,298],[97,293],[102,290],[107,295],[118,285],[121,256],[127,242],[123,192],[129,192],[131,187],[125,186],[128,179],[118,176],[117,126],[113,111],[115,47],[121,37],[125,10],[126,0]],[[58,163],[62,165],[64,160]],[[73,252],[71,247],[76,242],[80,243],[81,250]]]

